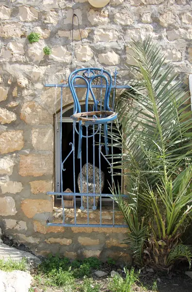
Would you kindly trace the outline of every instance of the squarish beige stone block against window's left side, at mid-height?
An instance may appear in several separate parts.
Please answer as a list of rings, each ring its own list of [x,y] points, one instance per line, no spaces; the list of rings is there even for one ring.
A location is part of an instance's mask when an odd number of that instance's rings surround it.
[[[35,150],[53,150],[53,129],[32,128],[32,145]]]

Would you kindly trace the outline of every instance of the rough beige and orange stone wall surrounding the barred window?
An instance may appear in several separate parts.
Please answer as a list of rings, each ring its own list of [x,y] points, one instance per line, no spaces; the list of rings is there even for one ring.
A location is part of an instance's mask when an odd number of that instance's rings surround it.
[[[0,225],[8,236],[35,253],[76,256],[122,256],[126,229],[47,227],[53,217],[55,90],[70,73],[72,14],[79,18],[82,41],[74,22],[72,67],[118,69],[129,80],[129,40],[151,35],[188,84],[192,73],[192,2],[190,0],[111,0],[92,9],[87,0],[0,1]],[[41,35],[30,44],[31,32]],[[50,46],[51,55],[43,48]],[[56,109],[59,110],[59,94]],[[71,102],[69,90],[64,106]],[[83,217],[83,216],[82,216]]]

